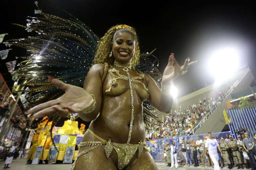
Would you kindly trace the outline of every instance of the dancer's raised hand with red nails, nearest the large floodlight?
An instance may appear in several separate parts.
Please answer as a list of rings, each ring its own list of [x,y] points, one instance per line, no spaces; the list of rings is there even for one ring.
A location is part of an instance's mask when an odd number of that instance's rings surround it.
[[[171,53],[169,56],[168,64],[163,72],[162,84],[168,86],[171,84],[171,81],[179,77],[183,72],[184,74],[188,71],[188,68],[197,63],[193,61],[189,63],[190,59],[187,58],[183,66],[180,66],[179,63],[174,58],[174,53]]]

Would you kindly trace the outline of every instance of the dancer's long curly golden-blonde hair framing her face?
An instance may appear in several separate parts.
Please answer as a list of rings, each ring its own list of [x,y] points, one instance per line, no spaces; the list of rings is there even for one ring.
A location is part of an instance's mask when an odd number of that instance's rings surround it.
[[[135,43],[135,53],[134,53],[134,56],[131,61],[131,67],[135,68],[135,66],[139,64],[140,47],[139,47],[138,37],[136,35],[135,29],[128,25],[115,25],[115,26],[111,27],[107,31],[107,33],[100,39],[100,41],[97,45],[97,51],[96,51],[95,58],[93,60],[94,64],[98,64],[98,63],[113,64],[114,63],[114,57],[109,57],[109,54],[112,50],[111,45],[112,45],[114,34],[119,29],[129,29],[134,34],[136,43]]]

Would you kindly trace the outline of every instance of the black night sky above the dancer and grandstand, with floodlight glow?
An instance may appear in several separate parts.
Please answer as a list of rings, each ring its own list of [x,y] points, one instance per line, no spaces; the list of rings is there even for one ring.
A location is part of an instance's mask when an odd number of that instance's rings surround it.
[[[73,14],[100,37],[115,24],[135,27],[141,51],[156,48],[154,55],[160,61],[161,72],[171,52],[175,53],[180,65],[187,57],[191,61],[198,60],[187,74],[175,80],[178,97],[204,87],[204,82],[207,85],[214,82],[208,69],[209,57],[213,51],[226,45],[234,46],[239,51],[240,63],[247,62],[256,74],[256,13],[255,6],[249,1],[244,4],[232,1],[224,4],[182,4],[167,1],[38,0],[38,4],[48,14],[64,18],[68,15],[63,10]],[[1,0],[0,34],[9,33],[5,41],[34,35],[11,23],[25,25],[26,16],[39,17],[39,14],[34,14],[35,9],[32,0]],[[7,48],[0,44],[0,50]],[[8,58],[0,60],[0,71],[10,87],[13,82],[4,63],[15,60],[15,56],[26,55],[25,50],[12,48]]]

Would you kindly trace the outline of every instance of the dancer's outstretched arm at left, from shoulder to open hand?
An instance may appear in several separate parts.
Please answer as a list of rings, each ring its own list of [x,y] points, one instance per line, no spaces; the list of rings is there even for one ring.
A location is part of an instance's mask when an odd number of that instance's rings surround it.
[[[104,66],[96,64],[92,66],[85,79],[84,89],[78,86],[66,84],[61,80],[49,78],[48,80],[55,86],[62,89],[65,93],[58,99],[39,104],[31,108],[27,114],[33,114],[33,118],[40,118],[51,114],[61,117],[68,117],[69,112],[81,113],[90,108],[94,102],[95,109],[88,114],[79,114],[84,121],[95,119],[99,113],[102,98],[101,75],[104,73]],[[95,101],[92,97],[95,96]]]

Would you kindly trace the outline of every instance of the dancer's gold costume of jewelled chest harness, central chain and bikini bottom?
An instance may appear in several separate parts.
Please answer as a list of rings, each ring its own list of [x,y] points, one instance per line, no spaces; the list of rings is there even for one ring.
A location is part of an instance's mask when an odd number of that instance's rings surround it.
[[[107,158],[110,156],[113,149],[116,151],[117,156],[118,156],[118,168],[119,169],[123,169],[130,162],[131,158],[133,157],[133,155],[135,154],[135,152],[137,150],[138,150],[138,155],[137,155],[138,157],[141,156],[141,154],[143,152],[143,148],[145,150],[147,150],[145,141],[140,141],[138,144],[130,144],[130,140],[131,140],[131,136],[132,136],[133,120],[134,120],[134,96],[133,96],[132,82],[142,84],[143,88],[148,92],[149,89],[147,86],[145,86],[144,81],[143,82],[139,81],[139,80],[143,80],[144,74],[140,74],[138,71],[134,70],[137,72],[137,74],[139,76],[131,78],[130,73],[129,73],[129,69],[131,69],[131,67],[129,65],[122,65],[121,63],[118,63],[117,61],[114,62],[114,65],[117,67],[123,68],[123,71],[125,71],[127,73],[127,76],[120,74],[118,70],[116,70],[115,68],[113,68],[110,65],[110,69],[108,69],[108,72],[112,76],[113,80],[110,83],[110,88],[108,90],[106,90],[106,92],[110,92],[111,87],[115,86],[117,84],[117,81],[116,81],[117,79],[128,80],[128,82],[129,82],[132,110],[131,110],[131,121],[130,121],[127,143],[125,143],[125,144],[115,143],[115,142],[112,142],[111,139],[106,141],[106,140],[102,139],[100,136],[98,136],[97,134],[95,134],[93,131],[88,129],[87,131],[89,131],[93,136],[98,138],[100,141],[81,142],[79,144],[79,147],[91,147],[91,148],[84,150],[82,152],[79,152],[77,154],[76,159],[75,159],[74,163],[72,164],[71,170],[75,169],[75,164],[76,164],[78,157],[80,157],[80,156],[88,153],[89,151],[96,149],[102,145],[106,145],[105,146],[105,154],[106,154]],[[116,75],[114,73],[116,73]],[[92,96],[92,97],[94,97],[94,96]],[[94,105],[95,105],[95,103],[94,103]],[[91,106],[91,107],[93,107],[93,106]]]

